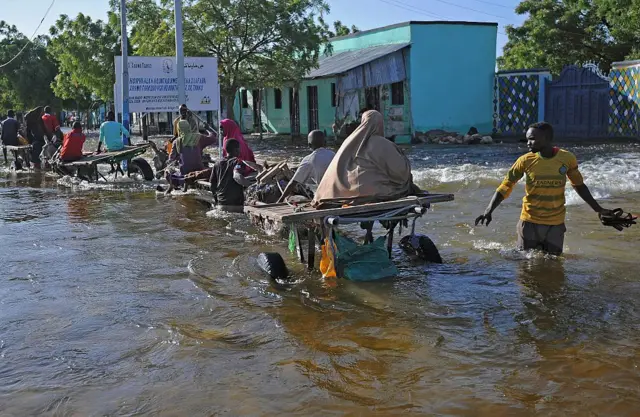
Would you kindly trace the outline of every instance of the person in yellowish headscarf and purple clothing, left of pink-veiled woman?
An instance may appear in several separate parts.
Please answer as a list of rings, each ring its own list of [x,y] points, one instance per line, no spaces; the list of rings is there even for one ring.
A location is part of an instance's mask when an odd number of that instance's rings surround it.
[[[218,143],[218,135],[209,131],[209,135],[202,135],[193,132],[189,121],[183,116],[178,123],[178,138],[173,142],[171,154],[167,161],[169,165],[177,164],[179,172],[175,170],[173,173],[167,169],[166,180],[169,182],[167,193],[171,193],[177,186],[184,184],[184,176],[192,172],[202,171],[205,169],[202,162],[204,148]]]

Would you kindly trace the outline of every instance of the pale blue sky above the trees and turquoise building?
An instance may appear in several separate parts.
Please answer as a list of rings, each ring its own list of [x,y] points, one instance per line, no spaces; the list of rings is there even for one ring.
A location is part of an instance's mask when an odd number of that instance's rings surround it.
[[[27,36],[36,29],[51,0],[0,0],[0,19],[15,24]],[[407,20],[466,20],[499,23],[498,55],[507,41],[504,25],[520,25],[524,17],[513,9],[518,0],[328,0],[331,5],[329,21],[341,20],[360,29],[404,22]],[[38,34],[47,33],[60,14],[78,12],[103,19],[108,0],[56,0]],[[502,32],[502,33],[500,33]]]

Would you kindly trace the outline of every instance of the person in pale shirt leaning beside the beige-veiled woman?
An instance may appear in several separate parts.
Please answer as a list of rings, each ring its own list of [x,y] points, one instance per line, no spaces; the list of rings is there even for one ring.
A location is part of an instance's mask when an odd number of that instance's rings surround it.
[[[293,178],[291,178],[291,181],[289,181],[289,184],[287,184],[282,192],[278,203],[283,202],[299,185],[317,187],[320,181],[322,181],[322,177],[327,171],[327,168],[329,168],[333,157],[336,156],[334,151],[325,148],[327,141],[323,131],[312,131],[309,133],[307,140],[313,152],[302,159]]]

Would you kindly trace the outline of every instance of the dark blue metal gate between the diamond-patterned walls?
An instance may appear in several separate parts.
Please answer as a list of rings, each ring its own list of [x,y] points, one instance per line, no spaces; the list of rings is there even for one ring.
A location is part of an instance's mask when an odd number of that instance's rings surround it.
[[[609,125],[609,78],[593,64],[570,65],[545,85],[545,119],[558,138],[604,138]]]

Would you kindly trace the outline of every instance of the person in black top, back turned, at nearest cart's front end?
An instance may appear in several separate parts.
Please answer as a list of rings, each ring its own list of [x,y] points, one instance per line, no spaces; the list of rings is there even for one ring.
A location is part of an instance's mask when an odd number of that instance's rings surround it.
[[[242,175],[244,163],[240,158],[240,142],[228,139],[224,145],[226,156],[211,169],[211,192],[215,206],[223,211],[244,211],[244,188],[250,182]]]

